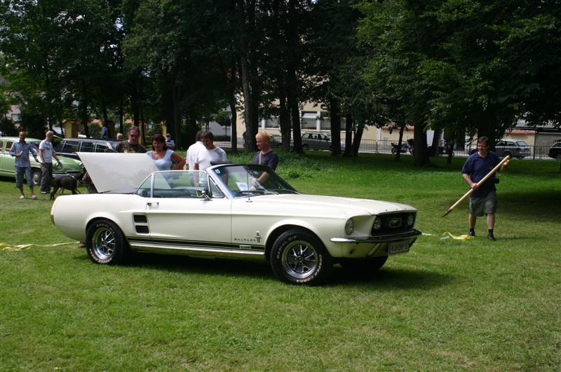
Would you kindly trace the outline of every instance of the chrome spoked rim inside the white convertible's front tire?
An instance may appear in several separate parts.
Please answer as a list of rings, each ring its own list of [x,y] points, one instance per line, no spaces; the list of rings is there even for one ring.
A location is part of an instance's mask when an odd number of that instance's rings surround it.
[[[282,255],[283,268],[293,277],[304,279],[318,267],[319,259],[316,249],[304,241],[295,241],[288,245]]]

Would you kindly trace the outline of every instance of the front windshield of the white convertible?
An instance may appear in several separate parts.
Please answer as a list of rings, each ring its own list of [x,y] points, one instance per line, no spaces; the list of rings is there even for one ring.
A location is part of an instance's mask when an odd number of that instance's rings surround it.
[[[235,198],[253,195],[297,193],[271,168],[262,165],[224,165],[210,170]]]

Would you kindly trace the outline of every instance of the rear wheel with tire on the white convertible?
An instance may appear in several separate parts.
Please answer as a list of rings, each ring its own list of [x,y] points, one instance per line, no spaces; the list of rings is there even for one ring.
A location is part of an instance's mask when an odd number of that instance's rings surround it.
[[[119,226],[106,219],[95,221],[88,227],[86,247],[93,263],[105,265],[123,263],[130,252]]]

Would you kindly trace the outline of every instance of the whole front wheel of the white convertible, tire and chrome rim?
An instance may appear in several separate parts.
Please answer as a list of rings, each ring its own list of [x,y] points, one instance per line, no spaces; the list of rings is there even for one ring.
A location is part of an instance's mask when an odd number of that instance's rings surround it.
[[[320,284],[329,275],[332,257],[317,237],[293,229],[281,234],[271,250],[276,277],[290,284]]]

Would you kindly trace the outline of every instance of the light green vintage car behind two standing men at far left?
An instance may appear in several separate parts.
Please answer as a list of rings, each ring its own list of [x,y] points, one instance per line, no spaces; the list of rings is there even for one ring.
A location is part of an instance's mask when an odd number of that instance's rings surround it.
[[[10,149],[14,142],[19,141],[18,137],[0,137],[0,176],[15,177],[15,168],[13,163],[15,158],[10,155]],[[39,143],[41,139],[29,138],[25,139],[26,142],[31,142],[35,145],[37,152],[39,152]],[[60,177],[63,174],[77,175],[83,172],[83,164],[80,160],[65,158],[59,156],[60,164],[56,161],[53,162],[53,177]],[[33,156],[29,156],[31,162],[31,170],[35,184],[41,182],[41,164],[37,163]]]

